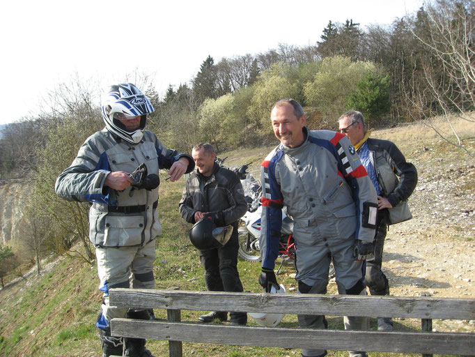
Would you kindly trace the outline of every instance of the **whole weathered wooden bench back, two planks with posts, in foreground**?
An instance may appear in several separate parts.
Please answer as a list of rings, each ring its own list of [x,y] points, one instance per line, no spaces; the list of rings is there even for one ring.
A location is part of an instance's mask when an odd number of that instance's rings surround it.
[[[169,321],[112,319],[111,333],[169,341],[169,356],[182,356],[182,342],[238,344],[283,348],[378,351],[400,354],[475,354],[475,333],[378,332],[228,326],[180,321],[180,310],[286,312],[328,316],[475,319],[475,299],[345,296],[320,294],[254,294],[211,291],[111,289],[111,305],[166,309]],[[231,308],[232,307],[232,308]]]

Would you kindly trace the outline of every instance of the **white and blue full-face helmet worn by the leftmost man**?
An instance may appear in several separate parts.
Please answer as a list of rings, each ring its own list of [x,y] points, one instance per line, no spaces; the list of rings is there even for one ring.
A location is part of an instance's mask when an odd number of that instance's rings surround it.
[[[130,144],[139,144],[145,130],[147,114],[154,111],[150,100],[132,83],[111,86],[102,102],[102,119],[106,123],[107,130]],[[126,130],[125,126],[114,118],[114,114],[141,116],[139,128],[132,132]]]

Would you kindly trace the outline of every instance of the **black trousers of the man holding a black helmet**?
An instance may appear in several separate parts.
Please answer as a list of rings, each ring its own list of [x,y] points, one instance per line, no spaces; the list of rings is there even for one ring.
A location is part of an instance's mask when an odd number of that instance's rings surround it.
[[[238,250],[237,227],[224,246],[200,250],[201,266],[205,270],[205,284],[209,291],[244,291],[237,271]],[[231,312],[231,322],[243,319],[247,319],[245,312]]]

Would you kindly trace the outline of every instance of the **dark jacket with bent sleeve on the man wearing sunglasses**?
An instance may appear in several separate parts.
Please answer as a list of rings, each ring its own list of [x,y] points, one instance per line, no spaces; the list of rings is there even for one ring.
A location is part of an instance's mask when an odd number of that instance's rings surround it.
[[[389,140],[368,138],[366,143],[382,195],[391,206],[396,207],[406,201],[416,188],[416,167],[407,162],[403,153]]]

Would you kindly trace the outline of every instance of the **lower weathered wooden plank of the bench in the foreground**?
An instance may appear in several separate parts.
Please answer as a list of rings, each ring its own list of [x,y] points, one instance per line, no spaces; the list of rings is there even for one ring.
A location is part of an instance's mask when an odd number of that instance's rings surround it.
[[[185,322],[112,319],[113,335],[154,340],[282,348],[379,351],[399,354],[460,354],[475,351],[473,333],[401,333],[263,328]]]

